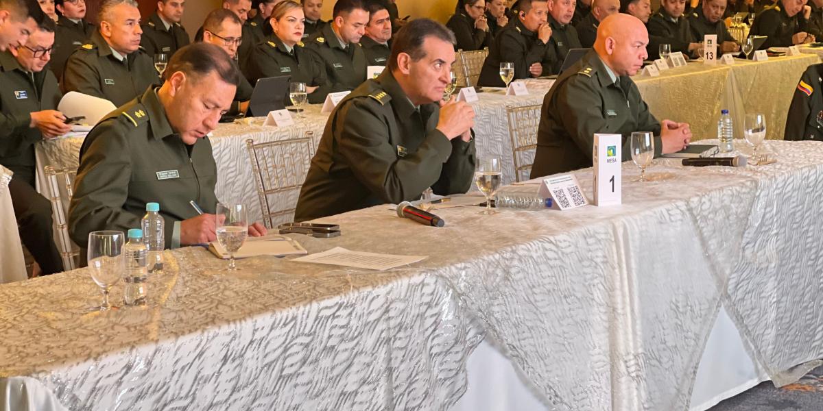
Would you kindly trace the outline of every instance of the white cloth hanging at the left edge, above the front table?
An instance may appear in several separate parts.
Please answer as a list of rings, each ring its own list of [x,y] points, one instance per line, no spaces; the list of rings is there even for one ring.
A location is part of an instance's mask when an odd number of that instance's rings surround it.
[[[12,171],[0,165],[0,284],[29,278],[17,219],[14,217],[12,195],[8,192],[10,181]]]

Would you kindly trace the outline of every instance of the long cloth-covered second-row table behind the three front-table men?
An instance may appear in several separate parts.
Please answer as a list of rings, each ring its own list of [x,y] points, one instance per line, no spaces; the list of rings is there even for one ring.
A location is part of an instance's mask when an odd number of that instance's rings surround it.
[[[716,137],[717,119],[723,108],[731,110],[738,131],[742,131],[745,113],[765,113],[767,138],[782,139],[797,79],[809,64],[816,62],[820,62],[820,58],[814,54],[770,58],[768,62],[736,59],[733,66],[710,67],[691,62],[687,67],[668,70],[659,77],[635,76],[634,80],[657,118],[689,122],[695,140]],[[480,93],[480,101],[472,104],[477,112],[477,154],[502,159],[504,183],[514,181],[506,108],[542,104],[549,85],[546,81],[528,81],[529,95],[505,96],[492,91]],[[309,107],[306,117],[292,127],[263,127],[262,118],[251,125],[218,127],[211,137],[218,170],[217,198],[242,201],[249,205],[250,217],[260,219],[262,211],[245,140],[283,140],[304,136],[310,131],[314,132],[314,140],[319,141],[326,118],[328,115],[319,113],[316,105]],[[741,132],[738,135],[742,136]],[[44,141],[38,152],[41,166],[52,164],[58,169],[76,169],[81,144],[81,137]],[[294,204],[296,196],[292,206]]]

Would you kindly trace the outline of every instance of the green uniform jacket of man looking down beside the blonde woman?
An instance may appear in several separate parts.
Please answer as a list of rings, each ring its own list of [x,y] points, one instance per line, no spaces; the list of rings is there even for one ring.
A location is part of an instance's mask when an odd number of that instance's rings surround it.
[[[332,25],[309,37],[306,49],[315,53],[317,61],[326,70],[326,81],[330,93],[354,90],[365,81],[365,54],[360,44],[349,44],[342,48]]]

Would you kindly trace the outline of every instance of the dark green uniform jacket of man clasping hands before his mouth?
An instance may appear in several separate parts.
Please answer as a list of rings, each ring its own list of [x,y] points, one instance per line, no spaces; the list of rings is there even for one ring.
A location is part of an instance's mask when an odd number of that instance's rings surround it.
[[[295,221],[415,200],[427,187],[442,195],[467,192],[474,141],[449,141],[438,119],[438,104],[417,111],[388,70],[365,81],[328,118]]]

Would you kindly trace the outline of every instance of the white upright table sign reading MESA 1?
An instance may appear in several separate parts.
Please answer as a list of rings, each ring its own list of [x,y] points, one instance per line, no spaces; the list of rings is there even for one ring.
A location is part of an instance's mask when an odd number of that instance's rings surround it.
[[[623,202],[622,144],[620,134],[594,135],[594,205],[618,205]]]

